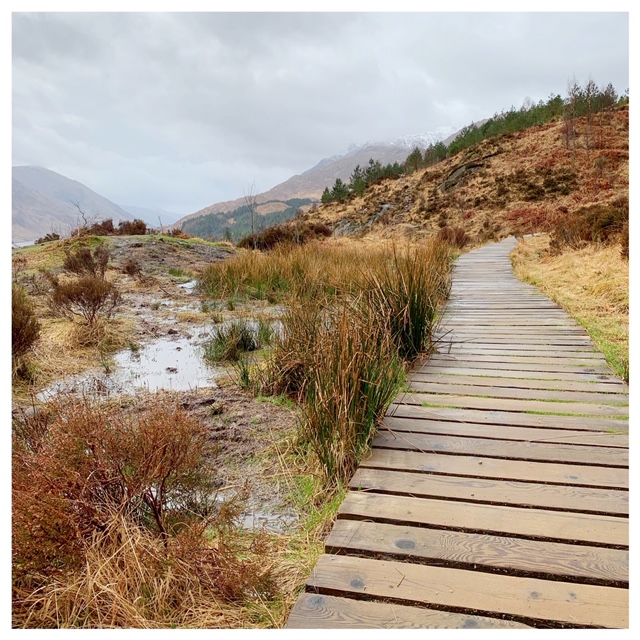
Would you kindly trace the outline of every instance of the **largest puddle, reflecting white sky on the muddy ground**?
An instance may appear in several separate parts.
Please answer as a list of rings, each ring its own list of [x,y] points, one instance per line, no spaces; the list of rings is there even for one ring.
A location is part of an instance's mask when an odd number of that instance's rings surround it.
[[[41,400],[60,392],[130,393],[146,391],[189,391],[215,387],[222,367],[209,366],[202,358],[202,347],[189,338],[160,338],[137,351],[126,349],[114,358],[113,371],[92,371],[62,380],[38,394]]]

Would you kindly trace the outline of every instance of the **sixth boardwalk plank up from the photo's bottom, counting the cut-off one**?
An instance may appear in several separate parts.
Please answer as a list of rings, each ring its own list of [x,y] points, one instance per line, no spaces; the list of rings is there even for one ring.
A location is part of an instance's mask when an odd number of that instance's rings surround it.
[[[415,451],[372,449],[360,463],[363,469],[416,471],[425,474],[451,475],[497,480],[521,480],[603,489],[629,488],[629,471],[611,467],[500,460],[478,456],[441,456]]]

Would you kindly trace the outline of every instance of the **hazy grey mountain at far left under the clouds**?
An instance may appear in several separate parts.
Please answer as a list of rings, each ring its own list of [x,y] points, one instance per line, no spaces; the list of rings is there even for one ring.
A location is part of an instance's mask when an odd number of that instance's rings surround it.
[[[75,204],[74,204],[75,203]],[[76,206],[77,205],[77,206]],[[65,234],[89,221],[135,216],[76,180],[43,167],[13,167],[12,230],[14,242],[35,240],[47,233]]]

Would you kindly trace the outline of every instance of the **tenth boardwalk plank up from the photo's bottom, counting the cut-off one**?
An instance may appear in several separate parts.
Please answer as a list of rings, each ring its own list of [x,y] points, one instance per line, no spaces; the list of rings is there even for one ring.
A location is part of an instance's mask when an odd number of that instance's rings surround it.
[[[588,402],[551,402],[545,400],[519,400],[509,398],[484,398],[475,396],[454,396],[433,393],[401,393],[394,400],[396,404],[418,405],[426,407],[453,407],[488,411],[522,412],[589,416],[627,417],[629,407],[614,404],[595,404]]]

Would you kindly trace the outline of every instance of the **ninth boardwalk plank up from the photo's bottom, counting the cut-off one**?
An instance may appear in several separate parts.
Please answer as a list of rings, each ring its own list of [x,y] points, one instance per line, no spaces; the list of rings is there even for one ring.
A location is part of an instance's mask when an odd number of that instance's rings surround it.
[[[387,415],[420,420],[446,420],[447,422],[473,422],[476,424],[512,425],[514,427],[549,427],[552,429],[588,429],[629,431],[629,421],[613,418],[584,418],[511,411],[480,411],[475,409],[447,409],[444,407],[422,407],[408,404],[391,404]]]

